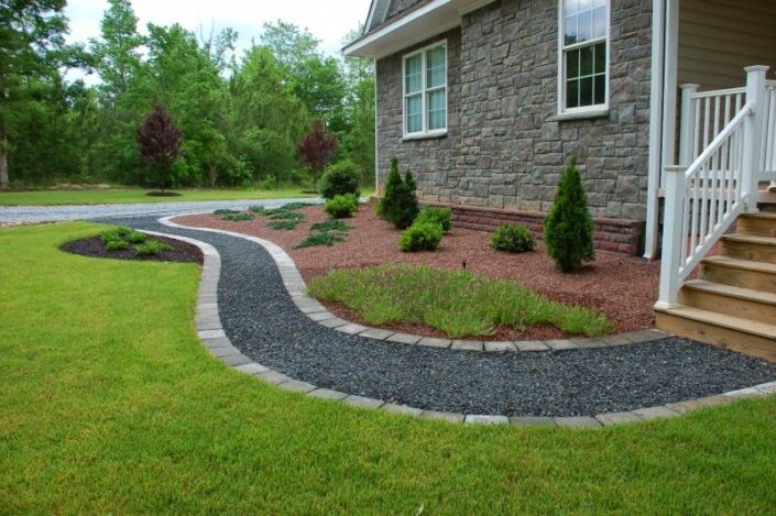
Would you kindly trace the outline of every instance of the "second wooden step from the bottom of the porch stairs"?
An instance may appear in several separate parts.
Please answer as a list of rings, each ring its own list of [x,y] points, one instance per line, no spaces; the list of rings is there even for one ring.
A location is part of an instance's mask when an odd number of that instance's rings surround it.
[[[682,305],[759,322],[776,323],[776,294],[693,279],[679,290]]]

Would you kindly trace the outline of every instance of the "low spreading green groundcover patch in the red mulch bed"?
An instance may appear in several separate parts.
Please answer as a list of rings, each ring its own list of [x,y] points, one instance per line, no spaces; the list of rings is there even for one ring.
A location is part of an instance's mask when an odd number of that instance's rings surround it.
[[[588,337],[612,329],[595,310],[551,301],[514,282],[427,265],[332,270],[310,282],[309,292],[318,300],[356,310],[370,325],[422,322],[453,338],[536,325]]]

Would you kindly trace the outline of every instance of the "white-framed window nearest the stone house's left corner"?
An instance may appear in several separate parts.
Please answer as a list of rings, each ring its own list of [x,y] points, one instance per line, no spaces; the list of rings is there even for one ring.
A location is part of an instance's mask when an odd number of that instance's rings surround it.
[[[404,56],[404,135],[447,132],[447,44]]]

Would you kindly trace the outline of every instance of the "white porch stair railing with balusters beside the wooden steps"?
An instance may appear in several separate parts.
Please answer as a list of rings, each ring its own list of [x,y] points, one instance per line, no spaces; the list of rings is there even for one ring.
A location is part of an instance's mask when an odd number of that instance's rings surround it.
[[[765,80],[767,69],[746,68],[745,88],[682,88],[680,165],[665,171],[662,308],[677,304],[682,282],[739,215],[756,210],[757,180],[776,143],[776,87]]]

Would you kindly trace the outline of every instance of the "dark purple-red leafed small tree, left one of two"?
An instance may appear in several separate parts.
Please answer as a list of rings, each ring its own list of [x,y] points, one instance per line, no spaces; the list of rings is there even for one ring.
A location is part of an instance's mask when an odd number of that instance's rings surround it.
[[[181,130],[160,105],[138,128],[138,153],[149,165],[153,182],[162,189],[173,180],[173,164],[181,154]]]

